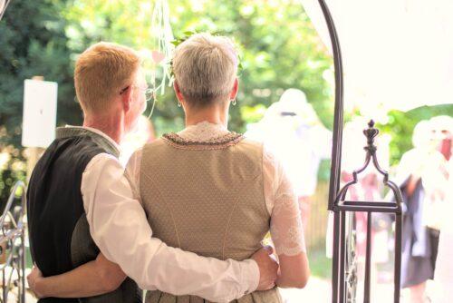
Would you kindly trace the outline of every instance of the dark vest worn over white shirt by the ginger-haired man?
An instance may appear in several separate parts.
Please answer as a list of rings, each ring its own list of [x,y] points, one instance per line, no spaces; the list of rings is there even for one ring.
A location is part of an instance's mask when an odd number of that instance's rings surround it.
[[[94,156],[117,148],[96,132],[58,128],[56,139],[34,168],[27,190],[28,227],[34,262],[44,277],[96,259],[82,200],[82,173]],[[120,239],[119,239],[120,240]],[[92,298],[44,298],[40,302],[141,302],[141,291],[126,279],[115,291]]]

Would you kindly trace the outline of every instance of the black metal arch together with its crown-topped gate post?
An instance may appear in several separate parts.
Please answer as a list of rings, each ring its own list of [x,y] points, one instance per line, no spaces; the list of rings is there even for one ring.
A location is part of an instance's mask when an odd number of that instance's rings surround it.
[[[333,23],[332,15],[324,0],[318,0],[323,10],[333,48],[333,64],[335,69],[335,108],[333,120],[333,150],[332,167],[329,190],[329,207],[333,211],[333,277],[332,302],[355,302],[357,275],[355,264],[355,226],[353,217],[348,214],[361,211],[367,213],[367,237],[365,259],[365,303],[370,302],[371,296],[371,218],[373,213],[393,213],[396,218],[395,229],[395,267],[394,267],[394,302],[400,302],[400,269],[401,269],[401,193],[398,186],[389,180],[389,173],[381,169],[376,157],[377,148],[374,138],[379,131],[374,128],[374,122],[368,124],[363,133],[366,136],[364,165],[352,173],[353,180],[340,189],[340,173],[342,164],[342,125],[343,125],[343,78],[342,52],[338,34]],[[352,147],[358,148],[358,147]],[[358,175],[372,163],[375,169],[383,176],[385,186],[393,192],[395,201],[382,202],[370,200],[345,200],[350,186],[357,183]]]

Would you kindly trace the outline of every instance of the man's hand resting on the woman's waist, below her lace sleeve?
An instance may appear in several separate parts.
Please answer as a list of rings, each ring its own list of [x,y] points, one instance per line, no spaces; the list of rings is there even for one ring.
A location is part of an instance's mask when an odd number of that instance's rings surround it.
[[[259,268],[259,284],[256,290],[267,290],[275,287],[278,263],[271,257],[273,252],[274,249],[272,247],[265,246],[252,256]]]

